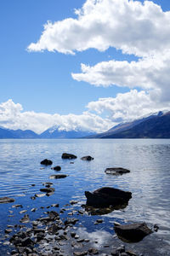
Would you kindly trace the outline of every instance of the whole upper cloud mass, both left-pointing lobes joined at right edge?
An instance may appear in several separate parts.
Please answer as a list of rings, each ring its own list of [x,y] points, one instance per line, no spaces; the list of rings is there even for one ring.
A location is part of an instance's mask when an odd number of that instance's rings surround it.
[[[87,0],[76,14],[76,19],[48,21],[28,50],[75,54],[90,48],[122,49],[139,60],[82,64],[82,73],[72,73],[72,78],[95,86],[139,87],[160,102],[169,101],[170,11],[151,1]]]

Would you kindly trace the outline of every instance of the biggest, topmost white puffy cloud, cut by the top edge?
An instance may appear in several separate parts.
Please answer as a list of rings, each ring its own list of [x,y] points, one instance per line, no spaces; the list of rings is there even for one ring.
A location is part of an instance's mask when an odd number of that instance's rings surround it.
[[[76,14],[77,19],[48,21],[28,50],[74,54],[114,47],[145,56],[170,48],[170,12],[151,1],[87,0]]]

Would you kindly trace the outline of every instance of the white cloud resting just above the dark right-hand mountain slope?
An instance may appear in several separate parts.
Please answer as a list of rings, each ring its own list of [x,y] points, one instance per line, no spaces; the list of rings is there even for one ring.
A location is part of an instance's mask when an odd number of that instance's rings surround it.
[[[156,101],[156,97],[150,96],[144,90],[130,90],[127,93],[117,94],[115,98],[99,98],[96,102],[89,102],[87,108],[99,114],[110,113],[110,119],[119,123],[139,119],[160,110],[168,111],[170,102]]]

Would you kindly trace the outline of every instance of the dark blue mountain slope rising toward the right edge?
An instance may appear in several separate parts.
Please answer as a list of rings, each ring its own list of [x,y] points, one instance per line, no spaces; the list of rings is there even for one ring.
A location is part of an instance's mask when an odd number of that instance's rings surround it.
[[[142,119],[116,125],[91,138],[170,138],[170,112],[152,113]]]

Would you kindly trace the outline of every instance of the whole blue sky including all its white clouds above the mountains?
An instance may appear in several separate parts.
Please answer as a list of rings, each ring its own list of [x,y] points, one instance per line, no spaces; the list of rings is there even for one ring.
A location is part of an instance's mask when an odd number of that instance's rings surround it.
[[[107,131],[170,109],[170,1],[2,0],[0,126]]]

